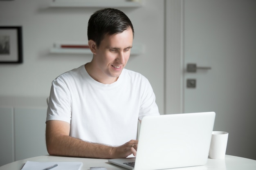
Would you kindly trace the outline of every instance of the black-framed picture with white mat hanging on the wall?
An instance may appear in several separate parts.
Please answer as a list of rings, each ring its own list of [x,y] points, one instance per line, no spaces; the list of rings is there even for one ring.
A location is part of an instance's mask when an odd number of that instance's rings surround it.
[[[0,64],[22,63],[22,27],[0,26]]]

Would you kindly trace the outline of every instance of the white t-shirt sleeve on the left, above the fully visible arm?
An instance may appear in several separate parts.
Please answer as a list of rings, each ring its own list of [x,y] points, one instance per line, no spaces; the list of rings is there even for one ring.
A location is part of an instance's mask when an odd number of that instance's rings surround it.
[[[46,117],[46,121],[48,120],[61,120],[68,123],[71,120],[70,90],[61,77],[52,82]]]

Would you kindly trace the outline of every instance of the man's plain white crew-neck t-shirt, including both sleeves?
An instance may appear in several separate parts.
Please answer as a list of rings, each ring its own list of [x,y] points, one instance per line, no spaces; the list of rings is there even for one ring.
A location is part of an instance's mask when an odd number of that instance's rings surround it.
[[[82,65],[52,82],[47,121],[70,123],[72,137],[119,146],[137,138],[138,119],[145,115],[159,115],[155,94],[134,71],[123,69],[116,82],[102,84]]]

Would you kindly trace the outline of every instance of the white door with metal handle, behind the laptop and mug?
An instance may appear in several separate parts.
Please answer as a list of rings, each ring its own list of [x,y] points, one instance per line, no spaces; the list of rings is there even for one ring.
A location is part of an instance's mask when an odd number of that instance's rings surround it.
[[[256,159],[256,1],[180,4],[181,111],[215,111],[214,130],[229,132],[227,154]],[[189,63],[211,69],[189,73]],[[187,88],[187,79],[196,87]]]

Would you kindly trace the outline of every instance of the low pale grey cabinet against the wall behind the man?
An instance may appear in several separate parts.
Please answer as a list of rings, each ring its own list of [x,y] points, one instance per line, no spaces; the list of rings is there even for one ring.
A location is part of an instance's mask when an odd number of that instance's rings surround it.
[[[45,112],[46,108],[0,107],[0,166],[48,154],[45,144]]]

